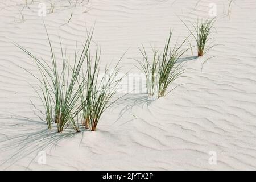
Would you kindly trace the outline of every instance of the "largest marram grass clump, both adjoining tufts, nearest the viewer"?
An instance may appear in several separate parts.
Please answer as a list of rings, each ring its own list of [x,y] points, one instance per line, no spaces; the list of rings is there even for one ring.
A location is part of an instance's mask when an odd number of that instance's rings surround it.
[[[50,64],[43,59],[38,59],[27,49],[16,44],[22,51],[32,57],[39,69],[41,78],[28,72],[39,81],[40,89],[36,92],[44,105],[48,129],[51,129],[52,123],[55,123],[58,132],[63,132],[68,126],[80,131],[78,118],[81,115],[81,124],[86,129],[95,131],[102,113],[116,101],[110,102],[122,79],[119,78],[118,80],[116,78],[120,69],[118,65],[122,58],[115,65],[113,71],[106,67],[104,74],[101,75],[98,46],[96,45],[94,56],[90,52],[92,32],[87,35],[80,53],[77,51],[76,43],[73,64],[70,64],[61,41],[61,60],[56,60],[48,32],[47,37],[51,53]],[[84,71],[83,65],[85,64]],[[102,78],[100,78],[101,76]]]

